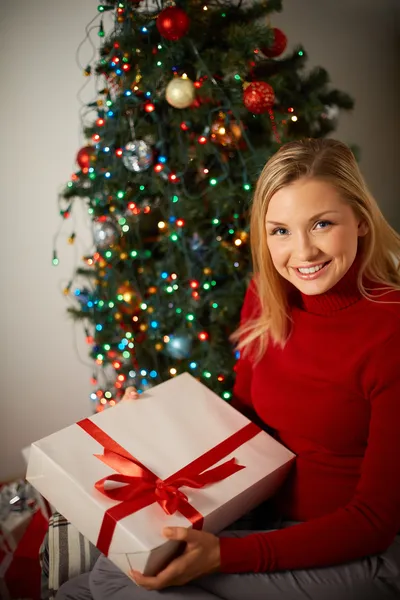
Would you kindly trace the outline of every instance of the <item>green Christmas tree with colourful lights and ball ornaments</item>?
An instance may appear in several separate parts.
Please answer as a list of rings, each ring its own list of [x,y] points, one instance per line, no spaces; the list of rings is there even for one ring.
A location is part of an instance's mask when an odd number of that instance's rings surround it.
[[[60,195],[94,248],[65,294],[84,323],[97,410],[189,371],[229,400],[251,275],[248,209],[279,146],[321,137],[351,98],[270,19],[281,0],[103,0],[87,144]],[[93,25],[92,25],[93,27]],[[75,233],[70,233],[72,243]],[[53,263],[58,263],[54,250]]]

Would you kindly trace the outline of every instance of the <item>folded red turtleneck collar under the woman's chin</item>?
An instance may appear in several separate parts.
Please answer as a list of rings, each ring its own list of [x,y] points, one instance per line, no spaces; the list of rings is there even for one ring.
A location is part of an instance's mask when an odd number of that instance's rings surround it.
[[[358,302],[362,298],[357,286],[359,262],[357,257],[342,279],[327,292],[315,296],[300,293],[300,307],[309,313],[328,315]]]

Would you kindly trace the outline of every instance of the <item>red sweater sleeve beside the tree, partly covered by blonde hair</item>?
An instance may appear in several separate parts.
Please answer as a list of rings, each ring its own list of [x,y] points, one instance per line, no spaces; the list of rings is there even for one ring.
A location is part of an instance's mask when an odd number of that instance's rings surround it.
[[[247,288],[242,310],[240,313],[240,324],[243,325],[253,315],[256,300],[254,281]],[[248,356],[240,356],[235,365],[235,385],[233,386],[233,398],[231,405],[239,412],[249,415],[252,412],[251,401],[251,378],[252,365]]]

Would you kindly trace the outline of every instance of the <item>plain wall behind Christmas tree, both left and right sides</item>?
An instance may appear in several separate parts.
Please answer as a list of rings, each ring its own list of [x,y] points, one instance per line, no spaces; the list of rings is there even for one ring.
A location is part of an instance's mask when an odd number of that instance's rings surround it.
[[[333,83],[354,96],[356,110],[343,116],[336,135],[362,147],[367,180],[400,229],[394,2],[284,5],[273,24],[286,31],[291,45],[303,43],[310,63],[326,67]],[[81,327],[75,331],[65,313],[62,295],[76,262],[90,250],[84,211],[77,210],[75,225],[67,222],[60,234],[56,269],[51,250],[60,225],[57,190],[83,143],[77,92],[87,80],[75,52],[96,10],[95,0],[14,0],[0,8],[0,480],[23,473],[22,447],[89,412],[87,347]],[[90,55],[86,43],[82,65]],[[78,239],[71,247],[67,238],[75,228]]]

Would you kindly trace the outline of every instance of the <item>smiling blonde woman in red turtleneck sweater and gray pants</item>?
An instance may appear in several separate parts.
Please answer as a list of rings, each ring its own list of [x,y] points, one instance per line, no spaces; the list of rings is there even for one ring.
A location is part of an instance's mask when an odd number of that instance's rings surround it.
[[[59,600],[400,597],[400,237],[347,146],[312,139],[264,167],[250,233],[234,405],[297,456],[270,522],[166,530],[186,550],[157,577],[101,557]]]

